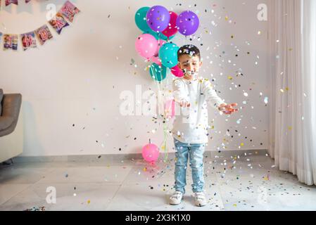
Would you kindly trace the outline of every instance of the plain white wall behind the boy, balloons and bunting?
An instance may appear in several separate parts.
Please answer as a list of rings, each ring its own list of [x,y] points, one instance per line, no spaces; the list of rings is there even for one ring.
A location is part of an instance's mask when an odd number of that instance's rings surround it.
[[[2,6],[0,32],[32,31],[46,23],[46,4],[61,8],[64,2],[32,1],[25,5],[20,1],[20,6]],[[1,43],[0,88],[6,93],[23,94],[23,155],[140,153],[148,139],[156,144],[163,141],[163,129],[152,122],[151,117],[122,117],[118,108],[122,103],[119,96],[124,90],[135,92],[137,84],[142,85],[143,91],[156,90],[156,84],[144,71],[148,63],[134,50],[134,41],[141,34],[134,24],[134,13],[142,6],[156,4],[177,13],[186,9],[198,13],[201,27],[196,37],[201,40],[189,41],[178,34],[174,41],[179,46],[188,43],[199,46],[204,62],[203,76],[211,78],[213,74],[220,96],[243,106],[239,114],[232,117],[219,116],[210,110],[215,129],[211,130],[213,140],[208,150],[217,150],[224,139],[227,149],[239,149],[240,143],[244,143],[240,149],[267,148],[268,111],[263,102],[268,95],[267,22],[257,20],[257,6],[265,0],[182,1],[182,6],[177,6],[179,1],[72,2],[82,13],[60,36],[51,29],[54,38],[44,46],[23,52],[19,42],[18,52],[13,52],[3,51]],[[225,16],[232,23],[225,20]],[[212,21],[217,26],[212,25]],[[238,57],[235,57],[235,46],[240,50]],[[137,68],[130,65],[132,58]],[[244,77],[235,76],[239,68]],[[231,81],[228,76],[234,79]],[[235,88],[232,82],[241,87]],[[248,98],[243,95],[244,91],[249,94]],[[242,101],[248,103],[244,105]],[[240,118],[241,123],[237,124]],[[155,134],[153,129],[157,129]],[[227,129],[233,138],[226,135]],[[173,152],[172,139],[169,137],[168,141],[169,151]]]

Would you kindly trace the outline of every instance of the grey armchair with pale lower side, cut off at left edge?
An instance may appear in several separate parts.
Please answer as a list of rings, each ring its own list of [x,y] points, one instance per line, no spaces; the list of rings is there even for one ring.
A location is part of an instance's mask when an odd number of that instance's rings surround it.
[[[21,105],[21,94],[4,94],[0,89],[0,162],[23,151],[23,129],[18,126]]]

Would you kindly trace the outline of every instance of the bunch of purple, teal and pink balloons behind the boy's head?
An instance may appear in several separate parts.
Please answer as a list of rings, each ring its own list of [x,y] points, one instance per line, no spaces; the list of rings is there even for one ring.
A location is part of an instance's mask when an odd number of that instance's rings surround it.
[[[135,47],[140,56],[152,62],[151,77],[161,82],[169,70],[176,77],[183,77],[177,67],[179,47],[170,40],[177,32],[184,36],[194,34],[199,26],[198,16],[192,11],[177,15],[163,6],[143,7],[136,12],[135,23],[143,32],[137,37]]]

